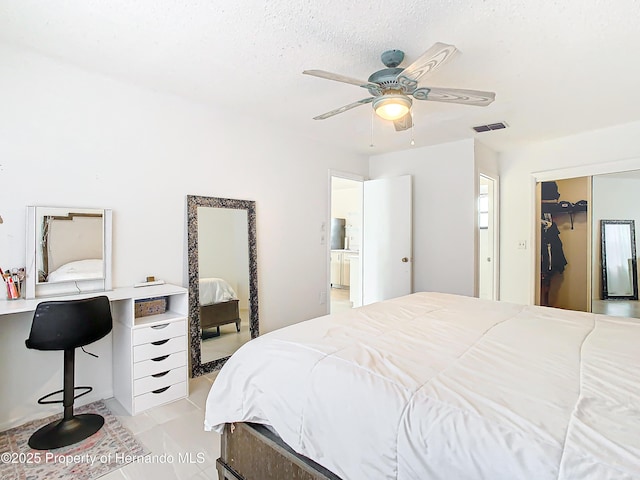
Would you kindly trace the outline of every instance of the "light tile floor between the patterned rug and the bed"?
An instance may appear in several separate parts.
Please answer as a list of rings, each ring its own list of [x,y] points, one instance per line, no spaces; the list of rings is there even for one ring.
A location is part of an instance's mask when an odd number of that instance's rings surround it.
[[[100,480],[218,480],[220,435],[203,428],[205,402],[216,375],[190,379],[188,398],[134,417],[127,415],[115,399],[105,400],[120,422],[151,450],[150,458],[157,461],[130,463]]]

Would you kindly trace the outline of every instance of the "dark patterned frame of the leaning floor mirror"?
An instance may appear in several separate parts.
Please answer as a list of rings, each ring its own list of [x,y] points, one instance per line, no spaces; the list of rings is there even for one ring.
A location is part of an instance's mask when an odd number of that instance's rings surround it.
[[[198,377],[222,368],[229,357],[202,363],[200,349],[200,285],[198,266],[198,207],[231,208],[247,211],[249,233],[249,330],[251,338],[259,334],[258,258],[256,248],[256,205],[252,200],[187,195],[187,247],[189,264],[189,336],[191,376]]]

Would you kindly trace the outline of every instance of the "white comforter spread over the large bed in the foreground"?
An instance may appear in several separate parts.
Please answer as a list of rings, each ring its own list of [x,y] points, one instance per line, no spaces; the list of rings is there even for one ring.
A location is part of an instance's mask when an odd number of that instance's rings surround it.
[[[345,480],[640,478],[640,323],[417,293],[245,344],[205,429],[271,425]]]

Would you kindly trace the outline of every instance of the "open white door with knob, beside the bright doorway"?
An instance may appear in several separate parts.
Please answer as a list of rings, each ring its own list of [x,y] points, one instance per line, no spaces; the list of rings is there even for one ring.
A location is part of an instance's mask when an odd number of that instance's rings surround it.
[[[411,175],[364,182],[362,304],[412,292]]]

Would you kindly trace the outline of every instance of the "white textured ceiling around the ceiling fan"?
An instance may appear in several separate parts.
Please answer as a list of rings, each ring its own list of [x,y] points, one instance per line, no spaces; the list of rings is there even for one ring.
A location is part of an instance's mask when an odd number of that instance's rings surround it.
[[[637,0],[0,0],[0,41],[156,91],[287,125],[351,151],[381,153],[476,136],[502,151],[640,120]],[[421,86],[496,92],[488,107],[414,102],[395,132],[354,85],[388,49],[408,65],[435,42],[460,52]],[[0,61],[2,59],[0,58]],[[505,121],[476,134],[474,125]],[[372,143],[374,147],[370,147]]]

